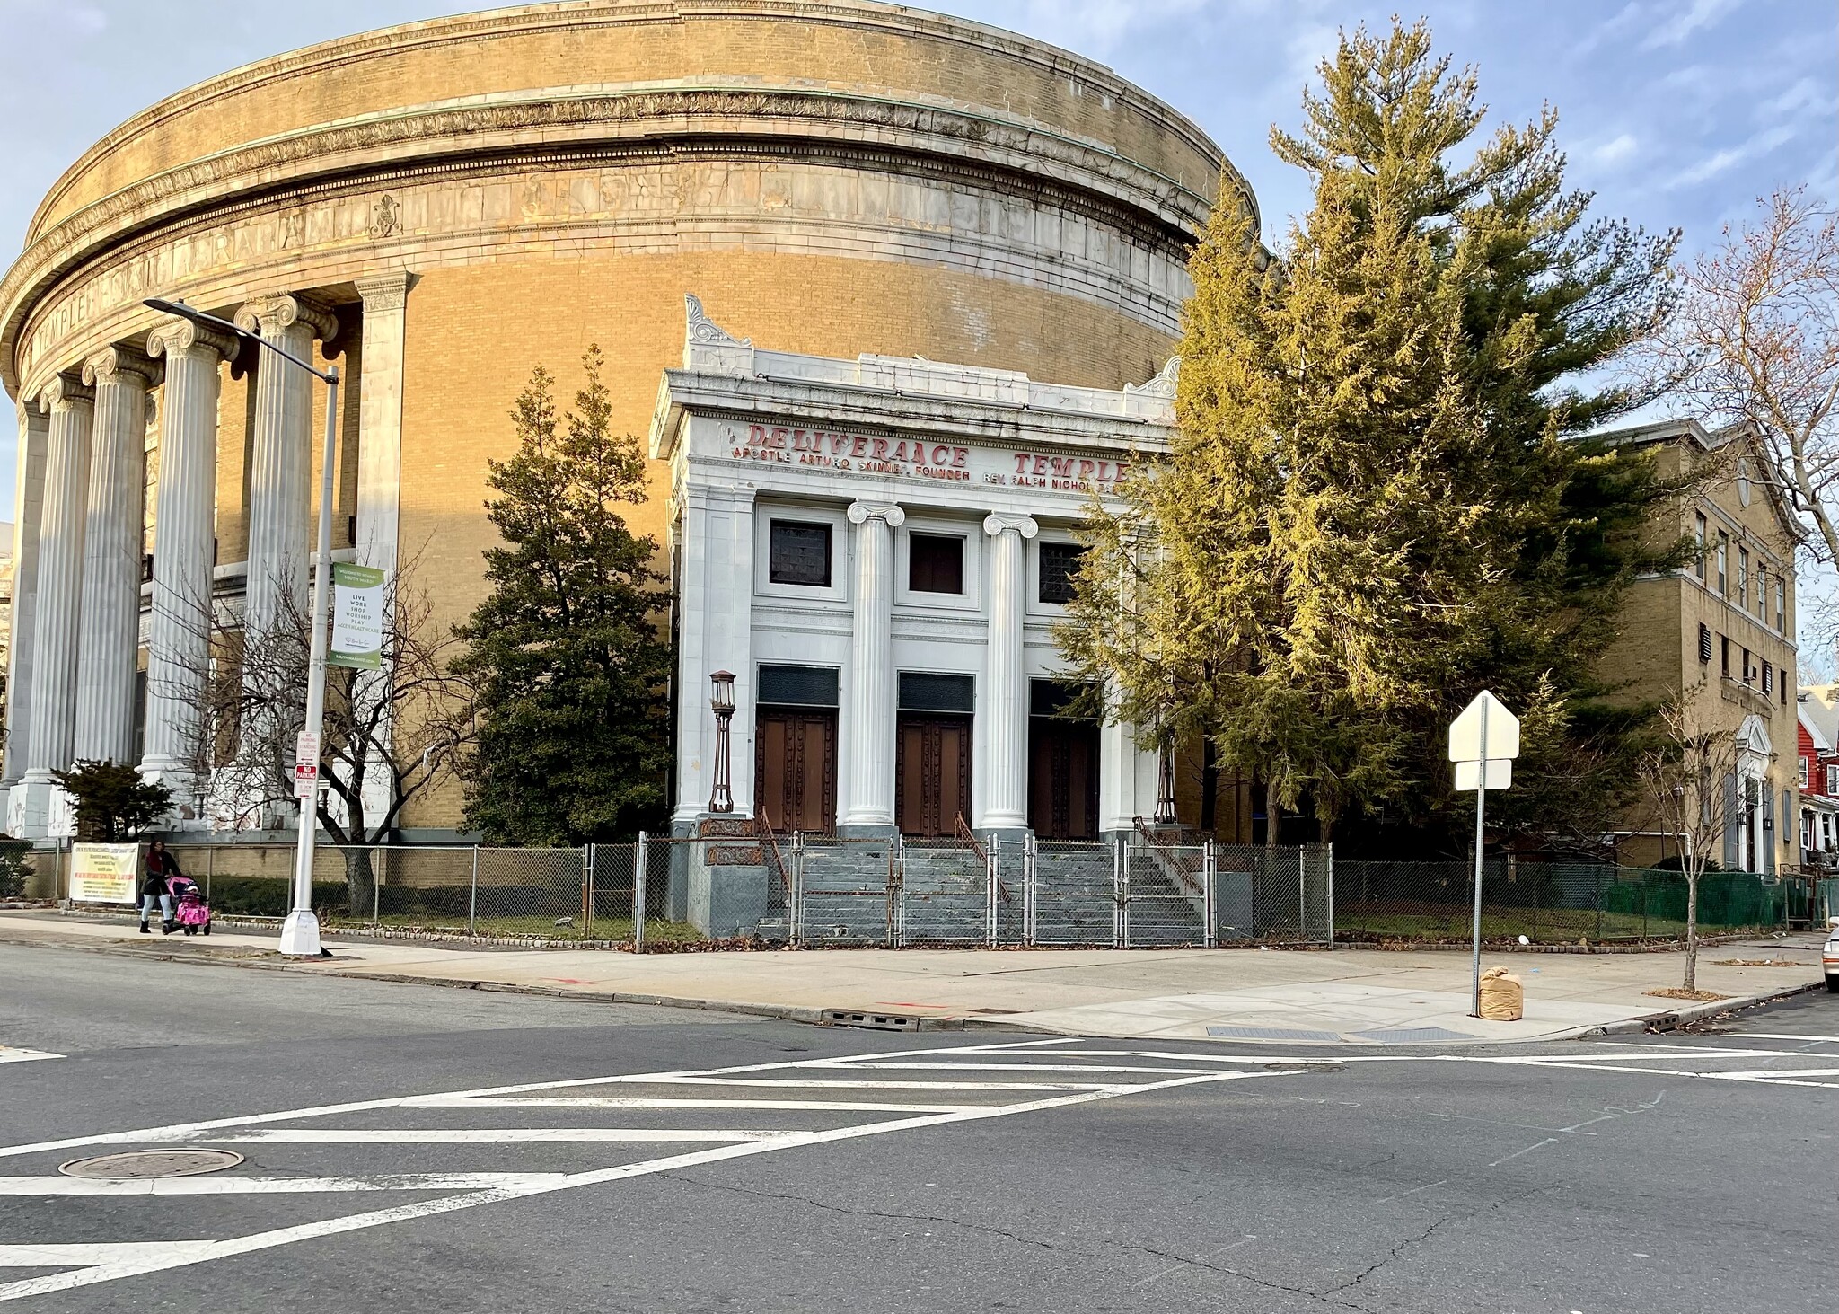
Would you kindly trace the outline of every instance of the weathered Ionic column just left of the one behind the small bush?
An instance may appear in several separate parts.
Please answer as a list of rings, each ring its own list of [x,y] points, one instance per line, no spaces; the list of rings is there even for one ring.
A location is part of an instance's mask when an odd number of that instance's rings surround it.
[[[83,508],[90,480],[90,429],[96,407],[88,388],[61,374],[39,394],[51,418],[44,445],[44,517],[39,526],[39,605],[33,629],[37,679],[31,729],[26,736],[29,834],[39,830],[39,797],[50,806],[51,773],[70,766],[77,710],[77,620],[83,604]],[[48,813],[44,813],[48,819]]]

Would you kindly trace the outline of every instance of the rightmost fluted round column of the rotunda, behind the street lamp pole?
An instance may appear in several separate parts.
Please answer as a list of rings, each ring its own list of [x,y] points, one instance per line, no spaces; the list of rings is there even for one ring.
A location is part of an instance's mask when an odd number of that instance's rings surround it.
[[[338,320],[300,296],[265,296],[235,313],[237,328],[261,333],[300,361]],[[303,615],[313,554],[311,374],[272,352],[256,357],[256,432],[248,460],[248,580],[245,642],[256,644],[287,615]]]

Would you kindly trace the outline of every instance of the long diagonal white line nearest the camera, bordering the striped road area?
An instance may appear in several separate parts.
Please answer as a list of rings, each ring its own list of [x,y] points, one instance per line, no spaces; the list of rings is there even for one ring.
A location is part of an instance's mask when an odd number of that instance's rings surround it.
[[[785,1067],[787,1064],[776,1064],[776,1067]],[[747,1071],[747,1069],[739,1069]],[[1142,1089],[1170,1089],[1177,1086],[1195,1086],[1210,1084],[1219,1080],[1245,1078],[1245,1077],[1263,1077],[1276,1073],[1203,1073],[1199,1077],[1177,1077],[1166,1082],[1157,1082]],[[548,1086],[574,1086],[583,1082],[552,1082]],[[543,1089],[543,1084],[526,1086],[520,1089]],[[344,1218],[322,1218],[318,1222],[296,1224],[292,1228],[276,1228],[272,1231],[261,1231],[248,1237],[232,1237],[224,1240],[204,1242],[199,1250],[188,1251],[182,1257],[175,1257],[171,1251],[160,1251],[145,1248],[143,1253],[129,1253],[109,1262],[101,1262],[90,1268],[77,1268],[68,1274],[48,1274],[42,1277],[28,1277],[18,1283],[0,1285],[0,1301],[15,1301],[28,1296],[44,1296],[50,1292],[66,1292],[77,1286],[92,1286],[96,1283],[109,1283],[121,1277],[134,1277],[142,1274],[156,1274],[167,1268],[178,1268],[184,1264],[199,1264],[211,1259],[226,1259],[230,1255],[246,1255],[257,1250],[268,1250],[272,1246],[285,1246],[296,1240],[313,1240],[316,1237],[333,1237],[348,1231],[362,1231],[368,1228],[381,1228],[394,1222],[406,1222],[410,1218],[428,1218],[441,1213],[454,1213],[460,1209],[474,1209],[485,1204],[497,1204],[500,1200],[522,1200],[528,1196],[548,1194],[554,1191],[570,1191],[576,1187],[600,1185],[605,1181],[620,1181],[625,1178],[651,1176],[657,1172],[671,1172],[675,1169],[697,1167],[702,1163],[719,1163],[723,1159],[737,1159],[752,1154],[771,1154],[774,1150],[785,1150],[804,1145],[824,1145],[831,1141],[851,1141],[868,1135],[885,1135],[888,1132],[907,1132],[927,1126],[945,1126],[949,1123],[973,1123],[991,1117],[1010,1117],[1013,1113],[1034,1113],[1050,1108],[1067,1108],[1072,1104],[1089,1104],[1094,1101],[1118,1099],[1124,1091],[1079,1091],[1074,1095],[1056,1095],[1052,1099],[1024,1101],[1017,1104],[1006,1104],[995,1110],[956,1110],[951,1113],[929,1113],[921,1117],[905,1117],[888,1123],[866,1123],[857,1126],[839,1126],[822,1132],[793,1132],[789,1135],[774,1137],[771,1141],[748,1141],[741,1145],[723,1145],[708,1150],[693,1150],[690,1154],[673,1154],[662,1159],[644,1159],[638,1163],[622,1163],[611,1169],[594,1169],[588,1172],[566,1174],[561,1181],[554,1183],[526,1183],[515,1187],[493,1187],[485,1191],[474,1191],[469,1194],[445,1196],[441,1200],[419,1200],[416,1204],[397,1205],[394,1209],[375,1209],[371,1213],[348,1215]],[[379,1106],[379,1104],[373,1104]],[[381,1106],[388,1106],[383,1102]],[[285,1115],[265,1115],[267,1121],[274,1121]],[[294,1117],[300,1117],[296,1112]],[[254,1121],[254,1119],[245,1119]],[[118,1134],[120,1135],[120,1134]],[[18,1147],[15,1147],[17,1150]]]

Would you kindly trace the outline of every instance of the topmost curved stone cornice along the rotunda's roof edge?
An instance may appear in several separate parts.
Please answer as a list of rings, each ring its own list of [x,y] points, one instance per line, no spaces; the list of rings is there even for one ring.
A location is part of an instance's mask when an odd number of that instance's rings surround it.
[[[614,0],[612,4],[598,0],[592,4],[524,6],[383,28],[305,46],[197,83],[132,116],[85,151],[39,204],[28,226],[28,245],[40,236],[42,228],[46,228],[46,215],[57,208],[59,201],[96,160],[120,151],[127,142],[162,120],[202,109],[213,99],[246,92],[261,83],[320,75],[355,63],[379,57],[388,59],[412,48],[434,48],[454,42],[476,44],[493,37],[519,37],[543,29],[568,29],[570,35],[579,37],[598,28],[671,24],[693,18],[807,20],[828,26],[870,28],[890,35],[945,39],[993,50],[1008,59],[1032,64],[1052,77],[1068,77],[1083,83],[1094,92],[1157,121],[1168,133],[1186,140],[1197,153],[1219,160],[1243,188],[1243,179],[1225,160],[1219,147],[1186,114],[1118,77],[1118,74],[1103,64],[1000,28],[918,9],[862,4],[861,0]],[[1251,197],[1251,190],[1243,190]]]

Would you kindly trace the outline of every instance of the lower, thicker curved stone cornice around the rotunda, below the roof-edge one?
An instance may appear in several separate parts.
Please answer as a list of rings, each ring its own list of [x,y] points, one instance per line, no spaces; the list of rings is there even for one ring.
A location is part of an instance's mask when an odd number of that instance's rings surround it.
[[[18,386],[15,352],[37,302],[138,234],[169,234],[309,188],[386,186],[390,177],[428,169],[502,169],[519,155],[566,160],[570,151],[682,147],[901,156],[1006,190],[1026,180],[1083,199],[1111,223],[1168,247],[1192,239],[1210,204],[1102,144],[1024,120],[840,92],[669,85],[417,107],[235,147],[145,179],[42,234],[0,280],[0,381]]]

